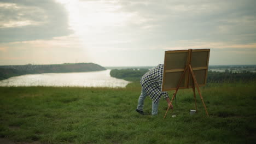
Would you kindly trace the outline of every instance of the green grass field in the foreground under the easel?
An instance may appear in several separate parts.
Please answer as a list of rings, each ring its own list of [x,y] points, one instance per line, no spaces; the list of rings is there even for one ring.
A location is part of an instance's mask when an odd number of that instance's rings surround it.
[[[135,112],[138,82],[126,88],[0,87],[0,136],[40,143],[254,143],[256,85],[210,83],[201,88],[210,117],[197,94],[181,89],[166,119]],[[172,92],[169,93],[172,95]],[[144,111],[150,113],[148,97]]]

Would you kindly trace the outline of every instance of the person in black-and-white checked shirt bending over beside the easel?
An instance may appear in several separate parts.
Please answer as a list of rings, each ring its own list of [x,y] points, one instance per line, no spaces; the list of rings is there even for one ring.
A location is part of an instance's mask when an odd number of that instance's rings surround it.
[[[152,115],[158,114],[158,104],[161,95],[164,96],[168,106],[171,105],[170,98],[167,92],[162,92],[162,74],[164,71],[164,64],[159,64],[153,69],[150,69],[146,74],[141,77],[141,95],[138,98],[138,106],[136,111],[144,115],[143,105],[144,99],[149,95],[152,99]],[[173,105],[170,107],[173,108]]]

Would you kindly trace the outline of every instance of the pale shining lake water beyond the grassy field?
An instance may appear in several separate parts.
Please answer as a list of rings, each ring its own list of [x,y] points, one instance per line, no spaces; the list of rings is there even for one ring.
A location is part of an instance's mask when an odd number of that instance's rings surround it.
[[[0,86],[125,87],[129,81],[110,76],[110,70],[84,73],[45,73],[10,77]]]

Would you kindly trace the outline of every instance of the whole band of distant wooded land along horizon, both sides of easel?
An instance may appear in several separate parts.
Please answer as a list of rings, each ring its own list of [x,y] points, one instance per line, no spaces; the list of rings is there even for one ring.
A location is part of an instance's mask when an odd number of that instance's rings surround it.
[[[72,73],[111,69],[110,76],[127,81],[139,81],[153,66],[102,67],[94,63],[0,65],[0,80],[25,74]],[[256,65],[209,65],[207,82],[255,80]]]

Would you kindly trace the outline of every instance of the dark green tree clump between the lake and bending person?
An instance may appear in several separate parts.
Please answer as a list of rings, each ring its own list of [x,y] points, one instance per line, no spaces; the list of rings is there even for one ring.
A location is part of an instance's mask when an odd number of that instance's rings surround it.
[[[139,81],[148,69],[112,69],[110,76],[127,81]]]

